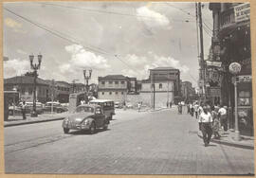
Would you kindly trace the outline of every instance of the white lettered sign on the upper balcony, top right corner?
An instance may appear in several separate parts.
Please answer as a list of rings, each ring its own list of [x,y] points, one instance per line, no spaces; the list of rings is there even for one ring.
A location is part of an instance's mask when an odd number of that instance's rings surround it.
[[[249,20],[250,5],[249,3],[243,3],[234,7],[235,22],[243,22]]]

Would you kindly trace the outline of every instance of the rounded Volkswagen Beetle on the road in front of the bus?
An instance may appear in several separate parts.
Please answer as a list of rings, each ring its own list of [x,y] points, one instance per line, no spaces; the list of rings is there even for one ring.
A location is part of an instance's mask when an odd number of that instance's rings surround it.
[[[98,128],[107,130],[109,120],[103,115],[100,105],[84,104],[76,108],[75,112],[63,121],[64,134],[69,130],[89,131],[89,134],[95,134]]]

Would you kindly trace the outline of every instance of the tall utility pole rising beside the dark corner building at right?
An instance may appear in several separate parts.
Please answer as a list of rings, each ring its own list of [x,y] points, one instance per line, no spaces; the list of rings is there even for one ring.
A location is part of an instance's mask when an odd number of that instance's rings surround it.
[[[199,18],[199,32],[200,32],[200,80],[203,80],[203,98],[206,95],[206,79],[205,79],[205,61],[204,61],[204,36],[203,36],[203,22],[202,22],[202,5],[198,3],[198,18]]]

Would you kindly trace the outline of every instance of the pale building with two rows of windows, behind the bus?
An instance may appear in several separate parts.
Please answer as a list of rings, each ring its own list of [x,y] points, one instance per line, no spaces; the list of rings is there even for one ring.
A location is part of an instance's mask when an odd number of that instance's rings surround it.
[[[99,77],[98,98],[125,101],[130,88],[129,78],[123,75]]]

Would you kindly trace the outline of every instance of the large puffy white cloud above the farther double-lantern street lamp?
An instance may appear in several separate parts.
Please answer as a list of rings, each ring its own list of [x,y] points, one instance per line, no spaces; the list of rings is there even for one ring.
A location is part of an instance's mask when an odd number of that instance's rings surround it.
[[[85,50],[82,45],[67,45],[65,50],[71,55],[71,59],[68,63],[60,65],[62,72],[77,71],[84,68],[103,70],[110,67],[104,57]]]

